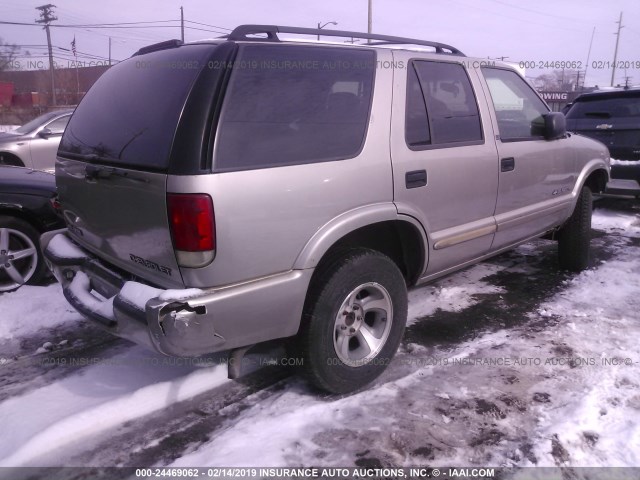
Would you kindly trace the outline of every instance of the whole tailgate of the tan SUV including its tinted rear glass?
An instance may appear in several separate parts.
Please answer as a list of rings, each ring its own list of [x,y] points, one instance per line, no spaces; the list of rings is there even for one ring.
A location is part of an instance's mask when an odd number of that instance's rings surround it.
[[[58,150],[59,198],[74,240],[164,288],[183,286],[167,215],[167,175],[174,163],[200,164],[184,149],[174,161],[174,138],[216,49],[165,48],[111,67],[77,107]]]

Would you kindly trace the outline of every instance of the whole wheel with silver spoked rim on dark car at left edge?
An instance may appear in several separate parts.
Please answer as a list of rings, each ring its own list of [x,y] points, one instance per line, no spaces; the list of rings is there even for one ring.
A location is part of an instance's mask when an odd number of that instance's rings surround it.
[[[39,233],[27,222],[0,216],[0,292],[42,280],[46,266],[39,238]]]

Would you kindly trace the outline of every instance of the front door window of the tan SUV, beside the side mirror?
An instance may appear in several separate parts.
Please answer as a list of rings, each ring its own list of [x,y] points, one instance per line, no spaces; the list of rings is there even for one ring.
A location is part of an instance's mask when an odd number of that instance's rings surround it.
[[[544,102],[516,72],[483,67],[496,111],[500,140],[538,140],[544,136]]]

